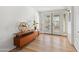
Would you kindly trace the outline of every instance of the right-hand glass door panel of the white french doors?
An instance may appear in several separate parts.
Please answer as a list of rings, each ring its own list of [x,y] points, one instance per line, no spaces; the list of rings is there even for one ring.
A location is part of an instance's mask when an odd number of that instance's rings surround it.
[[[54,15],[52,19],[53,34],[60,34],[60,16]]]

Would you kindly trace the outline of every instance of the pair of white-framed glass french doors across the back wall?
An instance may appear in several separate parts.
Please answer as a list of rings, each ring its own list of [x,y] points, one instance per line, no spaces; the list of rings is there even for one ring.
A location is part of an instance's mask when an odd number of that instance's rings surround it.
[[[66,33],[65,17],[64,13],[41,12],[40,31],[48,34],[64,35]]]

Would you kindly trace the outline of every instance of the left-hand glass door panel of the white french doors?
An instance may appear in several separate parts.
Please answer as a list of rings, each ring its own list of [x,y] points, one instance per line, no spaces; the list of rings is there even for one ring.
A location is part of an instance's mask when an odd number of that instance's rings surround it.
[[[51,33],[51,14],[40,12],[40,29],[42,33]]]

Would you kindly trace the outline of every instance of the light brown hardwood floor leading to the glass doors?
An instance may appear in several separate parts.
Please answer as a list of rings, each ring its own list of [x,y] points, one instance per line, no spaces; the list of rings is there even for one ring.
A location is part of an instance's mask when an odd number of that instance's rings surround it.
[[[33,42],[16,52],[76,52],[76,49],[64,36],[40,34]]]

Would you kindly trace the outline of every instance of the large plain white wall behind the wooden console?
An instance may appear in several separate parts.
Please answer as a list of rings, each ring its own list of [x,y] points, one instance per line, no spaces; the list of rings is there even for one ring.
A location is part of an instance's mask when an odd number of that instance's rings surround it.
[[[21,19],[32,23],[37,12],[31,7],[0,7],[0,51],[14,48],[13,34],[18,31],[18,21]]]

